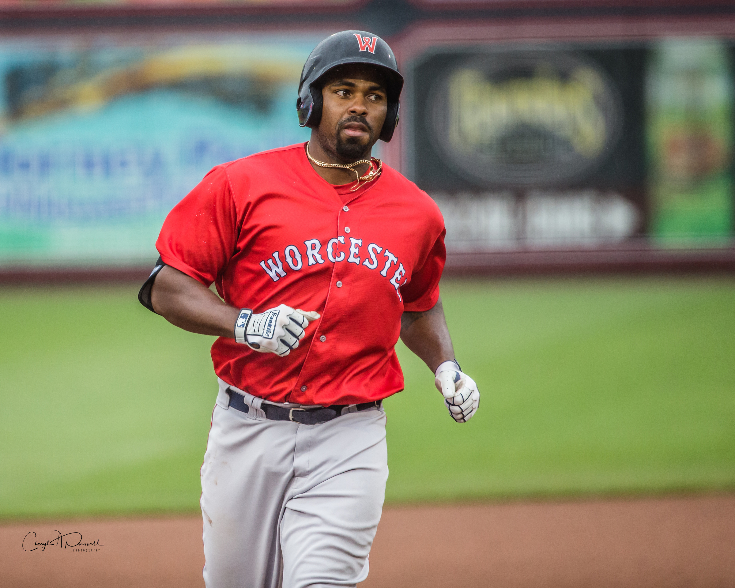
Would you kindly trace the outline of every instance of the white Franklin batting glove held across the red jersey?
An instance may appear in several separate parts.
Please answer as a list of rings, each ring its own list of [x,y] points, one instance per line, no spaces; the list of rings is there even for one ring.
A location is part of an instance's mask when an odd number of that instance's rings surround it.
[[[249,308],[240,310],[234,323],[234,340],[263,354],[285,357],[304,338],[309,320],[317,320],[319,313],[293,309],[285,304],[254,315]]]

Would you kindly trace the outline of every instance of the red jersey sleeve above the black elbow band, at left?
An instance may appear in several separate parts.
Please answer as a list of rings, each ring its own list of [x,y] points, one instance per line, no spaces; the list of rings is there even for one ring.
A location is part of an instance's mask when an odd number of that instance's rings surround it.
[[[236,240],[232,188],[218,166],[168,213],[156,248],[165,265],[209,287],[229,263]]]

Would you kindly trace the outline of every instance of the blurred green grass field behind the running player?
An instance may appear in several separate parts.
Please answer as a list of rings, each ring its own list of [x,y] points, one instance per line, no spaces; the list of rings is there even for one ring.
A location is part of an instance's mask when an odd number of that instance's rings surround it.
[[[137,287],[0,290],[0,517],[195,512],[211,337]],[[453,423],[399,349],[387,500],[735,489],[735,280],[451,281],[483,393]]]

